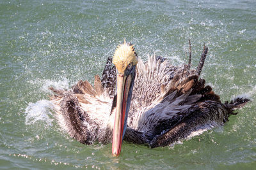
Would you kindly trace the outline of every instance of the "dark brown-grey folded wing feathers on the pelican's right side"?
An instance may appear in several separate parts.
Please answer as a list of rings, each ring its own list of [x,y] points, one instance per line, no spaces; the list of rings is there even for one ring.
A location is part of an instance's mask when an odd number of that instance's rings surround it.
[[[141,117],[141,130],[153,139],[152,147],[157,142],[162,143],[159,146],[170,145],[199,129],[211,129],[228,120],[230,110],[220,103],[211,87],[204,86],[204,80],[194,75],[184,81],[178,81],[161,103]]]

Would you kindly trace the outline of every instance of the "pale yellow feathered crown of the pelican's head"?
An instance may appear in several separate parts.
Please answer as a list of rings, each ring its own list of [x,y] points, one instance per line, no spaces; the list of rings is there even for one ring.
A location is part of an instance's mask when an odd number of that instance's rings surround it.
[[[128,64],[136,66],[138,57],[134,51],[134,46],[126,43],[118,45],[113,57],[113,64],[115,64],[118,73],[123,74]]]

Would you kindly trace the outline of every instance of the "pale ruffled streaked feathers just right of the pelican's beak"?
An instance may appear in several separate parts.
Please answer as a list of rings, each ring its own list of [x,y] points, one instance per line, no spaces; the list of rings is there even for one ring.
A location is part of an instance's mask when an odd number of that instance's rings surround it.
[[[172,66],[163,57],[148,56],[146,63],[139,59],[127,122],[129,127],[138,130],[143,114],[160,103],[175,82],[191,74],[195,74],[195,71],[189,70],[187,65]]]

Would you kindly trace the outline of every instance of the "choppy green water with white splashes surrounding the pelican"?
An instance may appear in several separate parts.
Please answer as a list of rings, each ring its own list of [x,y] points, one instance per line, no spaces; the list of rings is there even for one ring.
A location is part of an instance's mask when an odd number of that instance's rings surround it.
[[[255,169],[255,1],[1,1],[1,169]],[[252,99],[220,129],[164,148],[81,145],[60,128],[47,87],[93,81],[123,39],[142,59],[162,55],[193,67],[222,101]]]

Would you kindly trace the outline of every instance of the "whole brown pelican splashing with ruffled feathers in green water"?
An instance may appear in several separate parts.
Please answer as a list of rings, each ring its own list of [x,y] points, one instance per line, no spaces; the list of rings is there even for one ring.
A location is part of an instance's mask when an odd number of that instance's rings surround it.
[[[108,58],[102,78],[95,76],[94,87],[79,81],[71,90],[51,88],[58,122],[86,145],[112,141],[114,156],[121,152],[123,139],[154,148],[223,125],[248,99],[221,103],[198,78],[206,55],[204,46],[197,69],[190,70],[191,57],[182,67],[163,57],[143,62],[134,46],[124,42]]]

